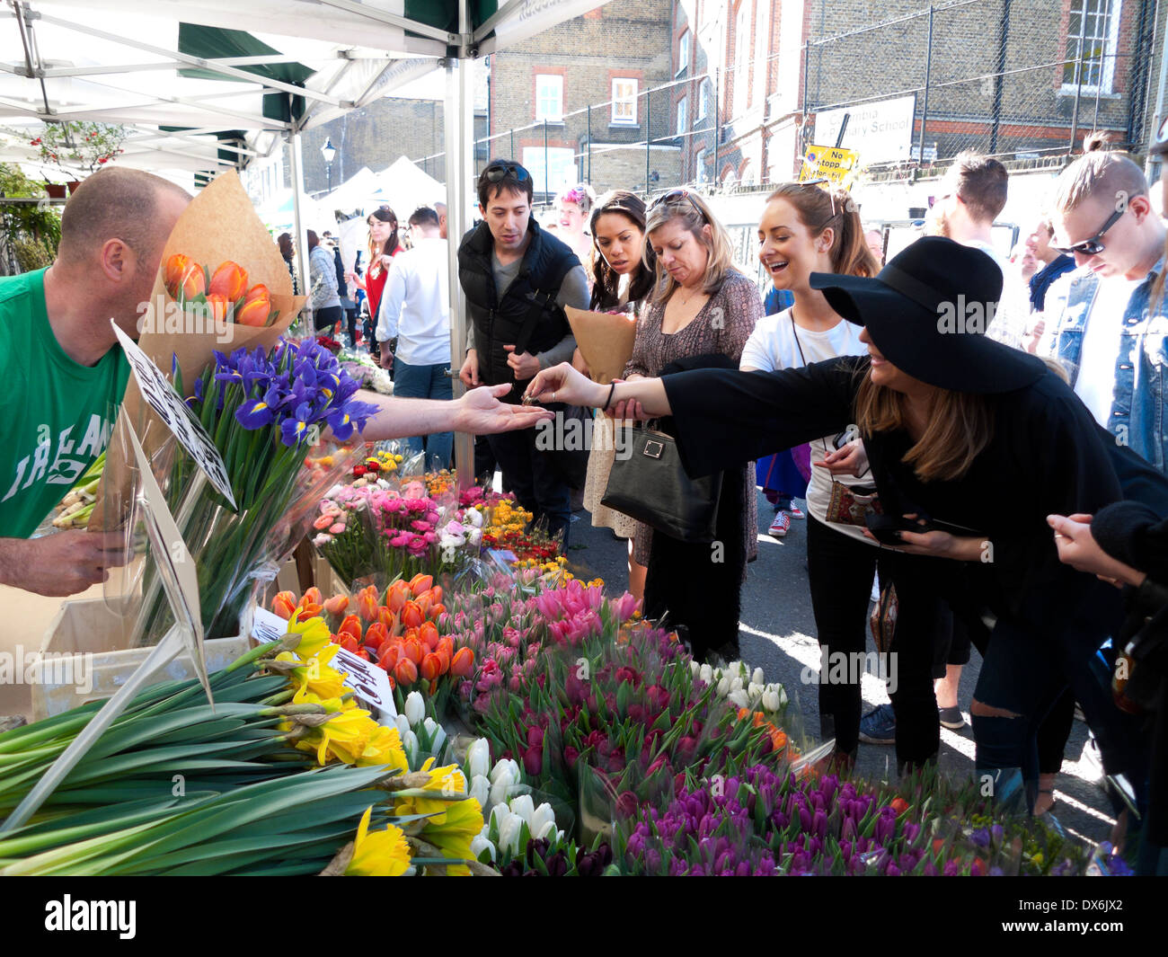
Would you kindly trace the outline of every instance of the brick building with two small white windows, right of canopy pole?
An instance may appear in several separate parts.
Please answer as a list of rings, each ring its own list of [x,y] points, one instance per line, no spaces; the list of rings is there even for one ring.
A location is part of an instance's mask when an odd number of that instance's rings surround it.
[[[672,96],[649,92],[674,76],[672,22],[672,0],[612,0],[491,58],[488,152],[531,172],[537,203],[679,181]]]

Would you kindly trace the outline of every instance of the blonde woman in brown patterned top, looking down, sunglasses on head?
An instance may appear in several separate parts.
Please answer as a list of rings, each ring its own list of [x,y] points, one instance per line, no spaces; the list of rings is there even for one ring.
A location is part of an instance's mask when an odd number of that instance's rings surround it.
[[[635,381],[674,368],[718,365],[737,368],[742,349],[762,318],[752,279],[732,265],[725,228],[701,196],[674,189],[649,206],[646,256],[656,258],[656,285],[637,320],[633,355],[625,379]],[[623,409],[616,418],[621,418]],[[641,418],[633,403],[630,417]],[[647,567],[645,613],[669,613],[684,627],[695,657],[708,652],[738,657],[738,610],[746,563],[758,554],[755,466],[749,457],[722,478],[716,541],[679,542],[638,523],[633,557]],[[717,596],[712,598],[711,596]]]

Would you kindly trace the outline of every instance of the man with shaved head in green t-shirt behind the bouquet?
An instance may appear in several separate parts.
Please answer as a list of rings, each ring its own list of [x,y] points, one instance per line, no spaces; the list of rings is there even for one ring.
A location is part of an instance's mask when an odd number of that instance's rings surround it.
[[[74,595],[118,561],[117,536],[28,535],[105,449],[130,366],[110,318],[138,338],[187,192],[103,169],[72,194],[56,262],[0,279],[0,583]]]

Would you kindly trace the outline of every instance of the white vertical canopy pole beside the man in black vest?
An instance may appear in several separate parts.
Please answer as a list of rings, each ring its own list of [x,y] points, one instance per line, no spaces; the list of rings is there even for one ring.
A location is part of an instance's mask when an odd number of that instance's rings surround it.
[[[471,33],[470,0],[459,0],[458,29],[464,36]],[[471,207],[472,186],[468,178],[474,172],[474,89],[473,65],[468,50],[460,47],[458,56],[446,57],[446,105],[443,123],[446,138],[446,236],[450,256],[450,370],[454,379],[454,397],[466,387],[458,370],[466,358],[466,298],[458,280],[458,247],[471,228],[467,213]],[[474,483],[474,436],[454,434],[454,462],[458,463],[458,487]]]

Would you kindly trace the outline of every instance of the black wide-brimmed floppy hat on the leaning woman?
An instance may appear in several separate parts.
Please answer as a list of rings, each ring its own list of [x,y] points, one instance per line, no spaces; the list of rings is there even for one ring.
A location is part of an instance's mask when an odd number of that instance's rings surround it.
[[[1047,373],[1042,360],[986,338],[1002,298],[1002,270],[980,249],[926,236],[875,278],[813,272],[811,287],[865,326],[884,359],[930,386],[1010,393]]]

